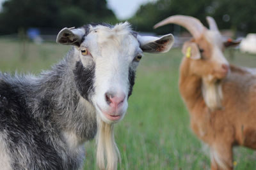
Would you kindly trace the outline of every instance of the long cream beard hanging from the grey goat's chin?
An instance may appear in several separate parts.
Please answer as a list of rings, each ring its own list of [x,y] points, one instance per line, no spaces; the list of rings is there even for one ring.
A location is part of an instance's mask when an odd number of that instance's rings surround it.
[[[115,143],[113,124],[107,124],[97,118],[97,164],[100,169],[115,170],[117,163],[121,161],[119,150]]]

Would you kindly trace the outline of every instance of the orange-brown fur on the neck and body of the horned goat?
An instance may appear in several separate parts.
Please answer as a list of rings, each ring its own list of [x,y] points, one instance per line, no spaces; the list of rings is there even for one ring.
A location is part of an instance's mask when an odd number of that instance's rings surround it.
[[[256,76],[230,66],[230,73],[221,81],[222,108],[210,110],[202,94],[202,81],[204,75],[214,73],[212,67],[214,63],[184,58],[180,94],[189,110],[191,129],[211,148],[212,169],[232,169],[232,146],[256,149]]]

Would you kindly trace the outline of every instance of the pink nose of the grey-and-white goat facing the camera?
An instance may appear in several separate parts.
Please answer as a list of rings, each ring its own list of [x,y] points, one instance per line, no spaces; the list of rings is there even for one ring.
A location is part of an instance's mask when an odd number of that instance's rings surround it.
[[[109,104],[109,106],[113,108],[120,106],[125,99],[124,93],[113,94],[111,92],[106,92],[105,96],[106,96],[106,102]]]

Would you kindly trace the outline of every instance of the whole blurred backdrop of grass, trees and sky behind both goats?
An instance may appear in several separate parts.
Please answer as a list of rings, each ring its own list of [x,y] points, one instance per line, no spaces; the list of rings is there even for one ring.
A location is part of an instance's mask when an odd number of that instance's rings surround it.
[[[154,30],[170,15],[191,15],[207,26],[212,16],[223,39],[243,45],[226,50],[232,64],[256,67],[255,0],[0,0],[0,71],[38,74],[51,69],[70,46],[55,43],[63,27],[90,22],[116,24],[128,20],[140,34],[173,33],[175,48],[145,56],[124,120],[115,126],[122,155],[118,169],[209,169],[207,147],[189,127],[189,114],[179,95],[180,46],[191,38],[178,25]],[[256,152],[234,149],[235,169],[256,169]],[[86,143],[84,169],[96,169],[95,141]]]

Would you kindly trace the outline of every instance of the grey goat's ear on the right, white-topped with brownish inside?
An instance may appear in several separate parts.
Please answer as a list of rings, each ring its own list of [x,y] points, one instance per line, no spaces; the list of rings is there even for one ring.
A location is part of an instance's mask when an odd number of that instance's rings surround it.
[[[148,53],[164,53],[172,48],[174,38],[172,34],[167,34],[161,38],[154,36],[137,36],[140,42],[140,48],[143,52]]]

